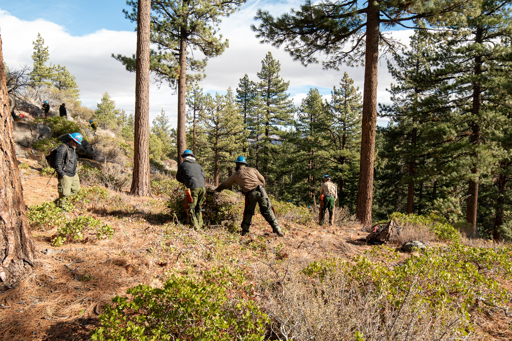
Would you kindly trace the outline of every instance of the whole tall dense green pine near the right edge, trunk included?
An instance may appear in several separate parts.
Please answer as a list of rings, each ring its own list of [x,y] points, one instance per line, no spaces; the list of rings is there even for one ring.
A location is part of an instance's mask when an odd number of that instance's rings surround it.
[[[479,180],[494,163],[488,152],[493,144],[490,134],[502,115],[492,104],[503,97],[497,91],[503,79],[512,77],[512,64],[505,57],[512,36],[510,4],[508,0],[482,2],[479,15],[440,33],[434,56],[437,67],[428,78],[433,84],[447,82],[444,88],[437,86],[451,94],[445,106],[453,108],[453,131],[447,130],[443,138],[449,135],[454,141],[457,150],[451,153],[452,157],[464,156],[458,157],[454,167],[467,180],[466,221],[471,224],[473,235],[477,232]],[[463,162],[465,165],[461,166]]]

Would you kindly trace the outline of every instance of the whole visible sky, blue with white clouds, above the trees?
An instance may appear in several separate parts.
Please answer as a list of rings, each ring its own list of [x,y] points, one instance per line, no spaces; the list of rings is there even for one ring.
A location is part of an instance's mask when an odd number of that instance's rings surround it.
[[[282,50],[262,45],[249,27],[258,8],[273,15],[298,7],[303,0],[261,1],[249,0],[241,10],[220,25],[220,33],[229,39],[229,48],[220,57],[210,59],[206,67],[207,77],[200,83],[205,92],[225,94],[228,87],[234,89],[245,73],[258,81],[256,73],[267,52],[281,62],[281,76],[290,81],[288,93],[295,105],[300,105],[311,87],[317,87],[321,95],[329,99],[333,85],[346,71],[362,90],[364,68],[344,66],[340,71],[322,70],[321,65],[302,66],[294,62]],[[0,0],[0,32],[4,41],[4,58],[10,67],[32,64],[32,41],[40,32],[50,51],[50,62],[65,65],[76,77],[80,86],[83,105],[95,109],[101,94],[108,92],[117,107],[127,112],[134,110],[135,75],[111,58],[111,54],[131,55],[135,52],[135,25],[124,18],[122,9],[128,7],[124,0],[90,1],[34,1]],[[409,31],[397,31],[393,36],[407,43]],[[379,65],[377,99],[389,103],[386,87],[392,79],[386,69],[386,61]],[[176,122],[177,97],[174,90],[163,84],[150,88],[150,121],[161,109]],[[386,125],[379,119],[378,124]]]

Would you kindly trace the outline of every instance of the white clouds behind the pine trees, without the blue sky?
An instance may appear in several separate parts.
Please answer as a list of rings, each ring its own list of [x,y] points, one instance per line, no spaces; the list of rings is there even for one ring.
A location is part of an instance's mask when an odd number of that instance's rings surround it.
[[[244,74],[256,81],[256,73],[261,69],[261,60],[268,51],[281,62],[281,76],[290,81],[289,92],[295,105],[300,105],[305,97],[304,88],[319,87],[332,88],[337,85],[347,71],[355,81],[355,85],[362,90],[363,67],[342,67],[341,71],[322,70],[321,65],[302,66],[292,61],[291,57],[282,50],[268,45],[262,45],[254,37],[249,26],[255,23],[252,20],[258,7],[250,8],[257,2],[254,0],[245,5],[242,11],[225,18],[221,24],[220,33],[229,39],[229,48],[220,57],[210,59],[206,68],[207,77],[201,83],[205,91],[224,92],[229,86],[237,87],[239,79]],[[270,13],[280,15],[296,5],[296,2],[279,3],[275,6],[260,2],[258,6],[265,6]],[[246,13],[246,14],[244,14]],[[255,23],[257,24],[257,23]],[[49,47],[50,61],[54,64],[65,65],[76,77],[80,86],[80,98],[83,105],[95,108],[103,92],[109,92],[116,101],[117,107],[127,112],[134,109],[135,101],[135,74],[124,70],[111,53],[131,55],[136,49],[136,33],[129,31],[99,30],[84,36],[72,36],[66,29],[53,22],[37,19],[33,21],[22,20],[0,10],[0,29],[3,39],[3,52],[5,62],[9,66],[18,64],[32,64],[32,41],[37,33],[45,39]],[[396,31],[393,35],[408,42],[410,31]],[[389,94],[386,87],[391,82],[387,72],[386,62],[379,64],[379,87],[377,99],[389,103]],[[306,90],[307,91],[307,90]],[[156,84],[150,88],[150,121],[158,115],[163,108],[176,122],[177,96],[174,90],[166,84],[160,89]],[[293,95],[294,94],[294,95]],[[329,95],[328,95],[329,96]],[[379,122],[381,123],[381,122]]]

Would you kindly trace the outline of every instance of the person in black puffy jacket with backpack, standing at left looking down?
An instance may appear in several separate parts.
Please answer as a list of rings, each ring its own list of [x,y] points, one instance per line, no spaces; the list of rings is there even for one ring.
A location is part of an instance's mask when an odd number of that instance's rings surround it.
[[[64,209],[66,198],[80,190],[80,179],[76,174],[77,156],[75,148],[82,144],[82,135],[79,132],[68,134],[70,139],[57,147],[55,151],[55,171],[59,184],[57,192],[59,197],[55,204]]]

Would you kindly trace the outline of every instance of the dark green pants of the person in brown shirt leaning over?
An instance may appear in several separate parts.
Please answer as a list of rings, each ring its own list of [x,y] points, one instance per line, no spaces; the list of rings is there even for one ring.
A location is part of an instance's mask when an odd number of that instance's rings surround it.
[[[278,220],[275,219],[275,214],[274,210],[272,209],[270,198],[264,189],[263,191],[265,194],[262,194],[261,191],[257,188],[245,194],[244,219],[242,220],[243,232],[249,232],[252,216],[254,215],[254,210],[256,209],[256,204],[260,206],[260,212],[265,220],[270,224],[270,226],[272,226],[272,231],[281,231],[281,226],[279,226]]]

